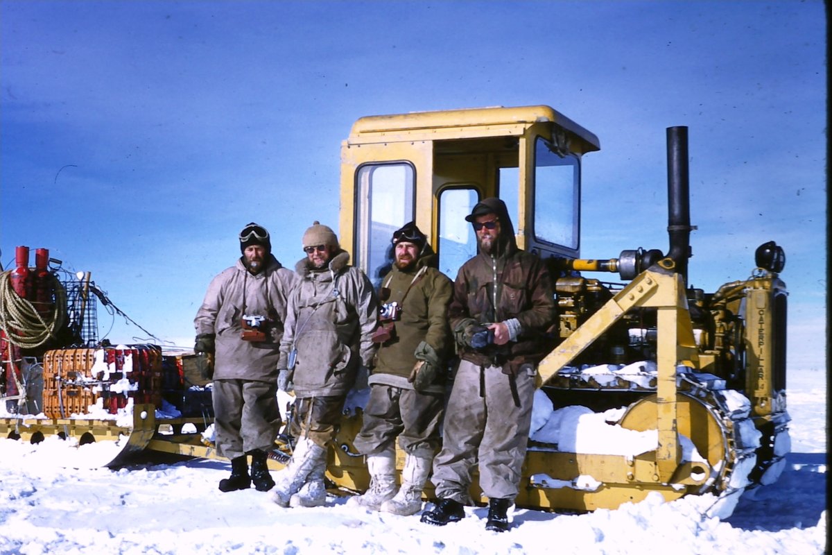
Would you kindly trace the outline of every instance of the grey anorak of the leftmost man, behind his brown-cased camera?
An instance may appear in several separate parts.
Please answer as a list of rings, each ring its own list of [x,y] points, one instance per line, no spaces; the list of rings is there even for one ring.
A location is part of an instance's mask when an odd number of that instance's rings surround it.
[[[274,255],[266,257],[263,270],[255,275],[240,258],[211,280],[194,327],[196,334],[215,334],[214,379],[276,383],[287,298],[295,280],[295,272],[280,265]],[[241,339],[243,315],[270,317],[265,341]]]

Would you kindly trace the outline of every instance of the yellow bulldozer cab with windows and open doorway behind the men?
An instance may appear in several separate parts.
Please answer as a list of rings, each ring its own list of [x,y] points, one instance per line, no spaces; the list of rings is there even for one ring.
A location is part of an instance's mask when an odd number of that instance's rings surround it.
[[[547,106],[362,117],[341,146],[341,245],[378,286],[394,230],[415,221],[453,279],[477,254],[465,216],[498,196],[521,249],[577,258],[581,156],[597,150]]]

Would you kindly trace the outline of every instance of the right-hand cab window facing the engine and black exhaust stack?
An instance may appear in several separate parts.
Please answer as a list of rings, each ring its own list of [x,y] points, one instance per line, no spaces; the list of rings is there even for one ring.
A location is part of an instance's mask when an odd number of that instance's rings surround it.
[[[581,182],[577,156],[557,151],[538,136],[534,162],[534,236],[577,250]]]

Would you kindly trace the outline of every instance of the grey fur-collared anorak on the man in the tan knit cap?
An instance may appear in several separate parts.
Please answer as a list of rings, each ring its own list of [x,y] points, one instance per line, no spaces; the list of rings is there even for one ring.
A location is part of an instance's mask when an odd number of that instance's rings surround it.
[[[295,265],[300,281],[289,298],[278,367],[289,368],[300,398],[345,395],[359,366],[370,367],[379,305],[373,285],[339,250],[318,270],[304,258]]]

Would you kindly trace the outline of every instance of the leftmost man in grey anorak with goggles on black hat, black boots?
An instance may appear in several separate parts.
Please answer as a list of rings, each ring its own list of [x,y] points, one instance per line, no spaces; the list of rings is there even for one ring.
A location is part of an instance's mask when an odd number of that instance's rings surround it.
[[[240,231],[240,260],[211,280],[196,313],[194,352],[212,378],[217,451],[231,459],[220,491],[275,485],[266,459],[280,429],[277,360],[295,273],[271,254],[269,232],[254,222]],[[249,474],[248,456],[251,457]]]

